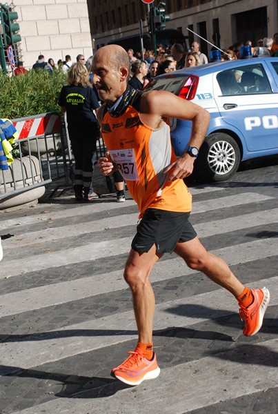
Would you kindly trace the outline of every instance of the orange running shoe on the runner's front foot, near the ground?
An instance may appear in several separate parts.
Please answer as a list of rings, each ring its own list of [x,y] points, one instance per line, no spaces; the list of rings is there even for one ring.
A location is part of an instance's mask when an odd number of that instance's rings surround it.
[[[155,353],[151,360],[142,357],[137,351],[128,353],[131,354],[130,357],[112,369],[112,377],[128,385],[139,385],[144,380],[154,380],[159,376],[160,368]]]

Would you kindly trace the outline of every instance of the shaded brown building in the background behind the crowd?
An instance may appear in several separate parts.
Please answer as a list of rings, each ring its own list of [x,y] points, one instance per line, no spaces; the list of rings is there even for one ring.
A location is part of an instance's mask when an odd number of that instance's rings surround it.
[[[221,48],[228,48],[236,41],[272,37],[278,32],[277,0],[164,0],[170,20],[166,28],[177,29],[188,37],[201,41],[206,54],[210,45],[190,30]],[[152,3],[159,4],[159,0]],[[139,33],[139,21],[148,32],[148,5],[141,0],[88,0],[90,31],[95,49],[113,39],[130,37]],[[188,30],[190,29],[190,30]]]

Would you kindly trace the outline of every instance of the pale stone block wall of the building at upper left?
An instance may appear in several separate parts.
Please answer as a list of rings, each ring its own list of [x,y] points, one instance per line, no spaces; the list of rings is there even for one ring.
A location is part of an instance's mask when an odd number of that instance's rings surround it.
[[[14,10],[19,15],[19,57],[26,68],[39,55],[55,63],[66,55],[72,61],[79,53],[86,58],[92,55],[86,0],[14,0]]]

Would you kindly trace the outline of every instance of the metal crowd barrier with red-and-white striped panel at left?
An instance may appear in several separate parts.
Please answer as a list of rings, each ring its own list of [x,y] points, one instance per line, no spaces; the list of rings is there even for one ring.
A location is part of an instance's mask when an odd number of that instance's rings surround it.
[[[0,170],[0,201],[65,177],[72,164],[66,132],[57,112],[12,119],[19,139],[17,156],[8,170]]]

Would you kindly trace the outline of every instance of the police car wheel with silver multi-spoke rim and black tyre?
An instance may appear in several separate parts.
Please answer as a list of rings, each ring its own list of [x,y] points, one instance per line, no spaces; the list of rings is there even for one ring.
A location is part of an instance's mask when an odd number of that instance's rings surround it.
[[[208,135],[197,158],[198,175],[209,181],[225,181],[239,168],[240,150],[235,139],[223,132]]]

